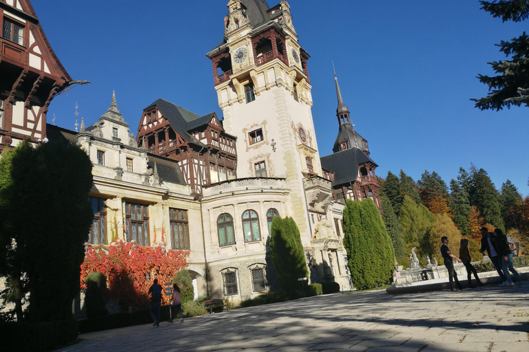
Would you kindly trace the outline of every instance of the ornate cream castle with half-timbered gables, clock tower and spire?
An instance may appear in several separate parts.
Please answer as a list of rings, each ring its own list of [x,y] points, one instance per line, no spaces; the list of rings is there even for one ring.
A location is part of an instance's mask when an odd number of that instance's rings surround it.
[[[320,157],[311,115],[310,55],[287,1],[230,0],[223,41],[207,52],[222,119],[159,98],[136,136],[115,94],[98,122],[78,132],[46,124],[48,105],[72,81],[29,0],[0,0],[0,143],[64,140],[92,160],[90,243],[110,233],[157,245],[165,230],[189,250],[196,296],[237,304],[277,288],[270,260],[273,217],[298,224],[311,282],[350,289],[342,244],[346,199],[381,209],[367,141],[353,128],[335,76],[338,137]],[[138,115],[140,115],[138,113]],[[158,239],[160,237],[158,236]]]

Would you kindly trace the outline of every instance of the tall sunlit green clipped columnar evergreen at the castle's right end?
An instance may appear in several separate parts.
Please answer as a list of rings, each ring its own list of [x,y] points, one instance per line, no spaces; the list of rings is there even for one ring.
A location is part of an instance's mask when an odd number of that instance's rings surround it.
[[[344,246],[353,285],[357,289],[370,289],[390,281],[395,252],[382,217],[371,199],[346,201]]]

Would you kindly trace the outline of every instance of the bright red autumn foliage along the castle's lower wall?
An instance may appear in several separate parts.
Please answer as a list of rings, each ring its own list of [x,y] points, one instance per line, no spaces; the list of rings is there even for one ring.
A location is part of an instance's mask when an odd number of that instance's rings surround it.
[[[149,305],[147,292],[152,280],[172,282],[173,276],[187,266],[189,251],[169,250],[161,246],[145,247],[118,239],[115,245],[88,245],[81,265],[81,287],[92,272],[107,277],[107,298],[114,299],[122,310],[143,309]],[[168,304],[167,296],[162,305]]]

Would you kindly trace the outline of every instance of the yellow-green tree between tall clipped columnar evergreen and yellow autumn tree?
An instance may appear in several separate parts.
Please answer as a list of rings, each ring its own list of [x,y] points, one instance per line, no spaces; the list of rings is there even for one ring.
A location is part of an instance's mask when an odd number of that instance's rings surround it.
[[[399,221],[406,253],[411,252],[411,248],[416,247],[422,256],[431,254],[428,232],[435,222],[435,215],[422,204],[417,205],[408,196],[404,196],[400,214]]]

